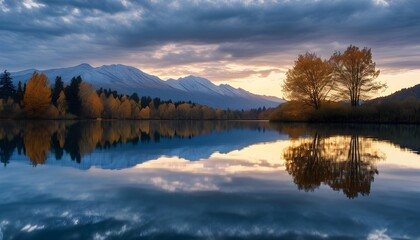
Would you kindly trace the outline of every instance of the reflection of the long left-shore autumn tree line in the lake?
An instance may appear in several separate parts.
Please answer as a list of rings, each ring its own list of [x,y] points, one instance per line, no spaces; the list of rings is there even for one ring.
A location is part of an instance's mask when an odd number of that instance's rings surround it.
[[[95,149],[243,128],[264,131],[269,125],[233,121],[3,121],[0,122],[0,160],[6,166],[17,149],[34,166],[44,164],[48,154],[57,160],[68,154],[80,163],[83,156]]]

